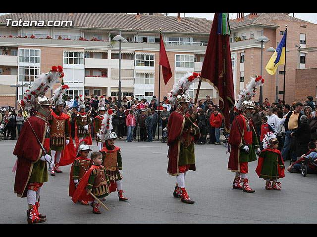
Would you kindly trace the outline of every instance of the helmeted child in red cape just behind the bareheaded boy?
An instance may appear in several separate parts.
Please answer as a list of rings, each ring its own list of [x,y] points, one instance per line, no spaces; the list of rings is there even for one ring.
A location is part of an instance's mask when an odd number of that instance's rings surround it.
[[[73,197],[78,182],[92,165],[91,159],[88,158],[89,152],[92,150],[89,145],[86,144],[87,142],[89,141],[84,139],[77,147],[78,154],[70,170],[69,197]],[[89,204],[87,200],[80,200],[80,202],[83,205]]]

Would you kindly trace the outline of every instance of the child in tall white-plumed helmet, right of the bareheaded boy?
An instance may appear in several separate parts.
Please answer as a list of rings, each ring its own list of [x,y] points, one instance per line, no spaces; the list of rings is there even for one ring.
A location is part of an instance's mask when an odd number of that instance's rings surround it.
[[[121,185],[121,170],[122,170],[122,158],[121,150],[119,147],[114,146],[114,141],[117,138],[115,132],[111,132],[112,129],[112,111],[108,110],[103,119],[102,126],[102,140],[105,142],[105,147],[100,151],[103,154],[102,165],[106,168],[106,174],[111,182],[111,192],[118,191],[120,201],[126,201],[128,198],[123,197],[123,190]]]

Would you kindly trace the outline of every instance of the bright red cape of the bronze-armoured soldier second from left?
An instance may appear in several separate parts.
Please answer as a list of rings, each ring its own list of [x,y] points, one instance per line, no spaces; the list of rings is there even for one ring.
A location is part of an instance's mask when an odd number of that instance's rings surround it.
[[[65,166],[65,165],[69,165],[69,164],[73,163],[77,154],[76,154],[76,149],[74,146],[73,139],[71,137],[71,125],[70,125],[70,121],[69,121],[69,116],[64,114],[64,113],[60,113],[60,114],[61,114],[60,116],[57,116],[55,113],[52,113],[52,116],[56,119],[66,119],[66,122],[68,124],[69,143],[68,143],[68,145],[66,145],[64,147],[64,150],[62,151],[60,161],[59,161],[60,166]]]

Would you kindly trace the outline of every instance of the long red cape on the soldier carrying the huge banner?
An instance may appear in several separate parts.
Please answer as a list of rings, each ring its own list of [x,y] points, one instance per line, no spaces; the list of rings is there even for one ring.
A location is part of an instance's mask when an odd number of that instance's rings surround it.
[[[187,117],[190,115],[187,114]],[[178,137],[181,136],[183,130],[184,130],[184,123],[185,123],[185,117],[178,112],[173,112],[170,117],[168,118],[168,124],[167,124],[167,146],[169,146],[168,150],[168,166],[167,166],[167,172],[170,175],[176,175],[179,173],[178,170],[178,160],[179,160],[179,143]],[[197,124],[194,122],[194,126],[197,126]],[[197,126],[198,127],[198,126]],[[198,140],[200,137],[200,134],[196,134],[193,137],[193,141]],[[190,170],[195,170],[195,164],[192,164],[189,168]]]

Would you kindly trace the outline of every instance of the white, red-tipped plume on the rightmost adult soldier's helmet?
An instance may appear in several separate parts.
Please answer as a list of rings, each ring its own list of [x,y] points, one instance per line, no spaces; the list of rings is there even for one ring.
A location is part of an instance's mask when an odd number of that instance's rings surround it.
[[[246,88],[239,93],[238,99],[236,100],[234,109],[238,112],[241,110],[243,101],[251,100],[252,97],[255,97],[257,87],[259,85],[262,86],[264,83],[264,79],[261,76],[256,75],[255,78],[250,78],[250,82],[247,84]]]

